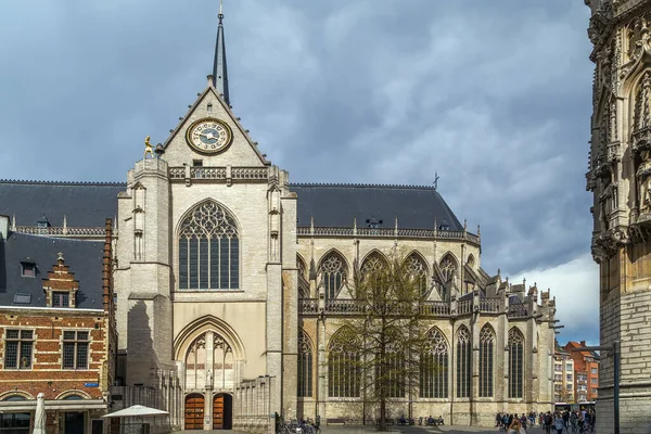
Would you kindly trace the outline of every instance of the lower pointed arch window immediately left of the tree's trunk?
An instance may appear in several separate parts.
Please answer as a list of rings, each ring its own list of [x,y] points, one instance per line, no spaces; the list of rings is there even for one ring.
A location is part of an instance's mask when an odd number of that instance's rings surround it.
[[[348,329],[340,329],[328,346],[328,396],[359,397],[359,352],[357,337]]]

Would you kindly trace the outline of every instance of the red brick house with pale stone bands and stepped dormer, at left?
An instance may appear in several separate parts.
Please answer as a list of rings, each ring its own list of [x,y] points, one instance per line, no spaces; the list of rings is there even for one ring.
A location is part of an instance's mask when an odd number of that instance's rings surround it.
[[[91,432],[115,373],[111,220],[104,241],[9,231],[0,216],[0,426],[30,433],[46,395],[48,433]],[[1,430],[0,430],[1,431]]]

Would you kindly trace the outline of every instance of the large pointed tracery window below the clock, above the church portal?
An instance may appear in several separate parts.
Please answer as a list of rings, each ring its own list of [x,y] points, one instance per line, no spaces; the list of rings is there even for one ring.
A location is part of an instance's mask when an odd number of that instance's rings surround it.
[[[216,202],[196,206],[179,233],[180,290],[238,290],[240,239],[234,218]]]

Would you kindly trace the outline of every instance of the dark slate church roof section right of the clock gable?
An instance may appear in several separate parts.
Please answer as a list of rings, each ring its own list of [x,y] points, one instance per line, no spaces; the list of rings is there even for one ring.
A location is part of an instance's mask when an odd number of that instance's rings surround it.
[[[398,218],[400,229],[434,229],[434,220],[444,220],[450,230],[463,230],[441,194],[427,186],[294,183],[290,190],[298,194],[299,227],[366,227],[366,220],[383,220],[382,228],[393,228]]]

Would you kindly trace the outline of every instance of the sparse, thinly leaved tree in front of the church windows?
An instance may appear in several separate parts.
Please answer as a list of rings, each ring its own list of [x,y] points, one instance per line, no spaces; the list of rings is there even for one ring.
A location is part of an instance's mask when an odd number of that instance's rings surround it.
[[[365,401],[379,405],[380,431],[386,431],[387,403],[413,393],[423,371],[437,368],[431,357],[421,357],[429,342],[424,284],[399,257],[370,258],[354,273],[352,293],[360,314],[343,319],[340,330],[347,354],[355,356],[337,360],[354,366]]]

